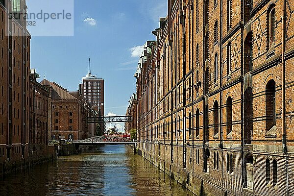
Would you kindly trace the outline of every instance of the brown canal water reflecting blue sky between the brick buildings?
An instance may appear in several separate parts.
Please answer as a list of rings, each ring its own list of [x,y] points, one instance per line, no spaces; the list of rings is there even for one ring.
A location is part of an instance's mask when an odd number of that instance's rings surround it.
[[[1,196],[193,196],[124,146],[60,157],[0,180]]]

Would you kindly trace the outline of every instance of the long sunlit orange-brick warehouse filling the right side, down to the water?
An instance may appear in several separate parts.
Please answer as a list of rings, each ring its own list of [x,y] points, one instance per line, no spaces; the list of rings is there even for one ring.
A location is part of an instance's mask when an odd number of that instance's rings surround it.
[[[135,74],[139,153],[196,195],[294,195],[293,0],[168,0]]]

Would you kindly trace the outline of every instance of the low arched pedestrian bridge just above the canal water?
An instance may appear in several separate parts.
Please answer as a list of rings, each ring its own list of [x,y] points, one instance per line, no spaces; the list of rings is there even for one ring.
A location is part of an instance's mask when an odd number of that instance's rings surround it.
[[[112,135],[96,136],[85,140],[73,141],[75,145],[136,145],[137,142]]]

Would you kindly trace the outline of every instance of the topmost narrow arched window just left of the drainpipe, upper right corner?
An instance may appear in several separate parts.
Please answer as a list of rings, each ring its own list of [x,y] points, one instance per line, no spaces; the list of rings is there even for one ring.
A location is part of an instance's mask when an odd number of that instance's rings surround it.
[[[269,9],[268,9],[268,14],[267,14],[267,50],[269,50],[271,47],[273,47],[274,43],[274,34],[275,34],[275,5],[271,4]]]

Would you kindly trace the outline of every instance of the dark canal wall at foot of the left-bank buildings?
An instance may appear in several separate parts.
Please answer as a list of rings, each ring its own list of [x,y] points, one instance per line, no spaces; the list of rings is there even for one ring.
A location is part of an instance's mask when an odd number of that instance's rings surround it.
[[[50,145],[43,150],[30,151],[26,158],[14,161],[7,159],[0,164],[0,176],[53,161],[57,158],[57,148],[57,145]]]

